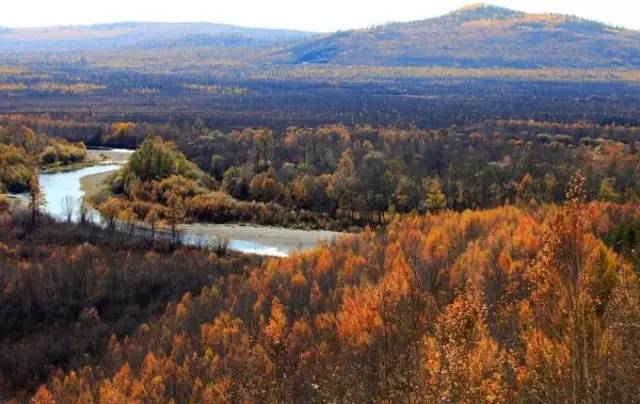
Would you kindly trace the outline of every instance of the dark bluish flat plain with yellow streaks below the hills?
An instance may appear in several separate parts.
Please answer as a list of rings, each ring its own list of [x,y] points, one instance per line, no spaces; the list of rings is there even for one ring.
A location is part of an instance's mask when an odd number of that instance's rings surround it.
[[[378,34],[375,30],[364,36],[377,41]],[[549,35],[554,38],[549,45],[557,44],[554,28]],[[355,33],[354,38],[359,42],[363,35]],[[442,38],[450,41],[447,34]],[[588,41],[576,41],[583,42]],[[418,46],[428,43],[421,40]],[[593,44],[594,49],[599,46]],[[632,47],[625,54],[635,53],[638,46]],[[402,49],[406,47],[391,47]],[[59,118],[90,117],[111,123],[202,119],[224,132],[245,127],[283,131],[327,123],[446,128],[487,119],[639,123],[640,71],[624,64],[610,68],[535,62],[528,68],[417,61],[393,66],[261,65],[233,60],[229,52],[206,46],[110,49],[86,56],[0,52],[0,113],[45,111]],[[243,52],[256,54],[254,48]],[[602,52],[595,54],[600,57]],[[285,58],[294,54],[281,53]],[[527,52],[534,55],[538,54]],[[618,63],[610,55],[604,60]]]

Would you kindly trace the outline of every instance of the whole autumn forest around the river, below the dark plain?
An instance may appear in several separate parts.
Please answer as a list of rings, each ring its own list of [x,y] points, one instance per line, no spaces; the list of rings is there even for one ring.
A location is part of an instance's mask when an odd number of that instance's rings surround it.
[[[28,195],[0,196],[1,401],[640,396],[638,127],[4,115],[0,134],[2,184]],[[104,146],[136,151],[89,201],[101,222],[43,215],[34,174]],[[185,222],[350,234],[264,258],[182,245]]]

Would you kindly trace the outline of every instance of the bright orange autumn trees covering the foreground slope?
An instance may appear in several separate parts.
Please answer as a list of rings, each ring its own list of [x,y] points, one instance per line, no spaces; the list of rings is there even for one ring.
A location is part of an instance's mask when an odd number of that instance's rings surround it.
[[[636,402],[634,241],[602,240],[638,207],[586,203],[585,183],[562,206],[398,218],[219,274],[33,400]]]

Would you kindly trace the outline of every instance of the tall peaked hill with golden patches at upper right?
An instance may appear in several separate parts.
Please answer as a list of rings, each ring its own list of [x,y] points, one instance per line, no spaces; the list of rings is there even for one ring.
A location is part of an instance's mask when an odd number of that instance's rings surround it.
[[[312,38],[273,56],[292,64],[640,67],[640,32],[478,4],[437,18]]]

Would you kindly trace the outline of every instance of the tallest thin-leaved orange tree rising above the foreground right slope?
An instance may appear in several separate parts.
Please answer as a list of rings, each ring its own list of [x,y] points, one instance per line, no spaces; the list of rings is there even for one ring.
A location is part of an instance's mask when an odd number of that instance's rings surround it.
[[[547,402],[601,402],[606,340],[602,313],[625,267],[590,232],[586,178],[570,181],[565,205],[552,214],[542,251],[528,270],[531,296],[520,322],[523,393]]]

